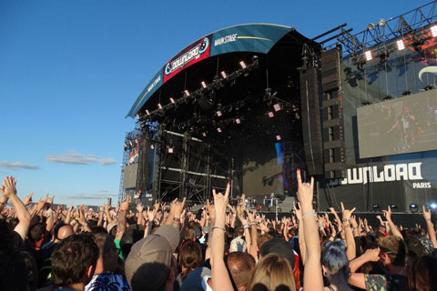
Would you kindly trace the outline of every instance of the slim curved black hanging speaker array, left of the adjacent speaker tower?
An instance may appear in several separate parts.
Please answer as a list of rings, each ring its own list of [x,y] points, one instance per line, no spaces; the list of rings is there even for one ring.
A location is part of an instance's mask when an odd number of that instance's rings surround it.
[[[310,176],[323,174],[323,150],[320,130],[320,70],[300,71],[300,107],[305,158]]]

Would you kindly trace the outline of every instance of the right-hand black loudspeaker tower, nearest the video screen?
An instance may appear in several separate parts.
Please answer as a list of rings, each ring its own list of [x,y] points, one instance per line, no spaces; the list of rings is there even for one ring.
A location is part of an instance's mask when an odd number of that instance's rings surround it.
[[[340,49],[321,53],[323,158],[326,178],[346,176]]]

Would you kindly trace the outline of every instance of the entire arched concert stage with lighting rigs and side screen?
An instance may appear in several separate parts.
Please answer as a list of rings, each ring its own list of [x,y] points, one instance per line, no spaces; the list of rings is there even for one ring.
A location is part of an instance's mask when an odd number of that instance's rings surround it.
[[[284,25],[205,35],[158,69],[127,116],[119,198],[204,203],[232,183],[262,205],[315,176],[317,208],[437,201],[436,2],[357,35]],[[417,17],[422,14],[426,17]],[[381,15],[391,16],[391,15]]]

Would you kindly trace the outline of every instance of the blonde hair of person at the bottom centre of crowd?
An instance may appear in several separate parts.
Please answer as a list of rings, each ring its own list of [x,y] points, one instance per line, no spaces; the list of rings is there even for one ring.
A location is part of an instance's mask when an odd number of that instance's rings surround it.
[[[287,290],[284,287],[290,291],[296,290],[290,262],[277,254],[263,256],[249,281],[249,291],[262,290],[262,287],[274,291],[279,286],[284,290]]]

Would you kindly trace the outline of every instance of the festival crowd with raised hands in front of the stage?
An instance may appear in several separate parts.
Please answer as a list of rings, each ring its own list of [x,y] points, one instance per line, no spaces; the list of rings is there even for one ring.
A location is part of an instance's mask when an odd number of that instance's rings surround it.
[[[54,206],[0,187],[1,290],[437,290],[432,214],[396,226],[391,209],[371,226],[341,204],[313,209],[313,185],[297,171],[299,204],[269,220],[213,190],[194,211],[185,199],[131,208]]]

